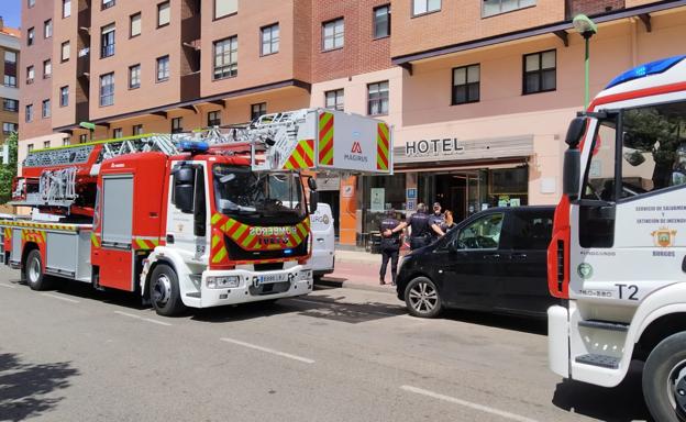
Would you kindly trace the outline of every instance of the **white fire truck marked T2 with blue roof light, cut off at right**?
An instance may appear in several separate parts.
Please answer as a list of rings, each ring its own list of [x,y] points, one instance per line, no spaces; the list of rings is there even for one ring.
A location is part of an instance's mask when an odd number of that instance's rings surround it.
[[[686,421],[686,56],[615,78],[566,143],[550,366],[613,387],[643,360],[652,415]]]

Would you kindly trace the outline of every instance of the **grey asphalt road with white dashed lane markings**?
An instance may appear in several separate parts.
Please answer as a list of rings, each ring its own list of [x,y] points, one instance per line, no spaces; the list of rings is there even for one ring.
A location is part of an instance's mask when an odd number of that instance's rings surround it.
[[[545,323],[406,314],[388,293],[318,290],[165,319],[0,269],[0,421],[645,420],[640,368],[604,389],[546,366]]]

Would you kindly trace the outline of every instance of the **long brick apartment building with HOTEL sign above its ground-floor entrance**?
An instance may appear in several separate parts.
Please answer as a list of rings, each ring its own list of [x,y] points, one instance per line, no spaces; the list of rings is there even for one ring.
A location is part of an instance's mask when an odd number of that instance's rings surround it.
[[[466,218],[557,201],[563,137],[584,106],[577,13],[599,25],[591,95],[683,54],[686,37],[686,0],[35,1],[52,18],[27,8],[24,27],[54,21],[54,71],[22,101],[51,100],[52,116],[20,116],[20,153],[42,136],[86,142],[84,121],[102,140],[302,107],[375,115],[395,126],[395,175],[319,184],[341,243],[358,245],[389,207],[440,201]]]

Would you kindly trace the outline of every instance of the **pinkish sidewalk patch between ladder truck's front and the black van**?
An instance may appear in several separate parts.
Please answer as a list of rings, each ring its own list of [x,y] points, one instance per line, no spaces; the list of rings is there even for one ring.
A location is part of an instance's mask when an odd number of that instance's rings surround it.
[[[402,258],[398,262],[398,267]],[[386,285],[379,285],[379,268],[381,255],[362,251],[335,252],[335,268],[333,274],[324,276],[319,285],[347,287],[353,289],[383,291],[396,295],[396,288],[390,285],[390,263],[386,269]]]

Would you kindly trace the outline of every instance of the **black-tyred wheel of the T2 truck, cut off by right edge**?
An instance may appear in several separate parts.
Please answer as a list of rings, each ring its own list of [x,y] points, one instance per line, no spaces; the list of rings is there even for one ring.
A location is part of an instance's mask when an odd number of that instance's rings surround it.
[[[643,367],[643,397],[656,421],[686,421],[686,332],[651,352]]]

